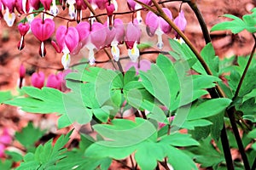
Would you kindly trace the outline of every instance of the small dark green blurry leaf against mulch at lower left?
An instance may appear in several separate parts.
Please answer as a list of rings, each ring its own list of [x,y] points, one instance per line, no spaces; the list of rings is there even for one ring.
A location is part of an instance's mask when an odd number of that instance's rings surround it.
[[[34,146],[34,144],[44,136],[45,131],[40,130],[40,128],[34,127],[32,122],[29,122],[26,127],[24,127],[21,132],[15,133],[15,139],[17,139],[20,144],[24,145],[26,148]]]

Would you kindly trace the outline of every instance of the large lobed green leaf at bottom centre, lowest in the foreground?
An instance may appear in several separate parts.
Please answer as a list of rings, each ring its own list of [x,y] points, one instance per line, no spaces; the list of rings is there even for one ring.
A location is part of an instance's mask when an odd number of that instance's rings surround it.
[[[173,167],[196,169],[189,156],[172,146],[198,145],[188,134],[173,133],[158,140],[154,125],[141,118],[136,118],[135,122],[115,119],[112,125],[95,125],[94,128],[107,140],[90,144],[85,156],[124,159],[135,152],[135,160],[142,169],[154,169],[157,161],[163,161],[166,156]],[[174,161],[177,157],[182,157],[187,163],[181,165]]]

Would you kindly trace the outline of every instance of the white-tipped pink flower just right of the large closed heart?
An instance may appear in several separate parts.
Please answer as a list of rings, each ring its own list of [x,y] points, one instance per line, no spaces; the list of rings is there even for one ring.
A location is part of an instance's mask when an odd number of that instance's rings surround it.
[[[61,63],[64,69],[67,69],[70,64],[70,54],[79,45],[79,31],[73,26],[60,26],[56,31],[56,41],[52,41],[52,45],[55,47],[58,53],[63,53]]]

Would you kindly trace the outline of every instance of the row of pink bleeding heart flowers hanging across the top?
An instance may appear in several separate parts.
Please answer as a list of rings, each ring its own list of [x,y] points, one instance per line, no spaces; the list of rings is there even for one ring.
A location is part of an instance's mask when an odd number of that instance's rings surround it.
[[[152,3],[151,0],[140,0],[140,2],[146,5]],[[92,14],[92,11],[90,11],[90,17],[83,18],[83,10],[89,10],[87,7],[89,4],[90,10],[92,10],[91,8],[98,8],[106,11],[105,23],[102,23],[101,20],[96,21],[96,16]],[[22,20],[18,25],[21,38],[17,47],[20,50],[25,47],[24,37],[27,32],[32,31],[32,34],[41,43],[38,53],[42,57],[46,55],[44,42],[55,33],[55,41],[52,41],[51,44],[57,53],[63,54],[61,63],[64,69],[68,69],[70,65],[71,55],[78,54],[84,47],[89,50],[90,65],[94,65],[96,61],[94,50],[108,47],[111,48],[113,59],[118,61],[119,45],[124,42],[131,61],[136,62],[140,54],[137,44],[140,43],[142,36],[140,25],[143,23],[141,16],[143,7],[134,0],[127,0],[127,4],[131,11],[137,11],[136,19],[127,25],[114,15],[114,11],[118,11],[118,3],[115,0],[0,0],[0,19],[3,18],[8,26],[13,26],[16,16],[15,11],[21,16],[25,16],[25,20]],[[59,16],[60,7],[63,10],[67,8],[69,19]],[[172,12],[169,8],[162,9],[172,20]],[[34,17],[35,15],[37,16]],[[67,25],[55,28],[55,18],[67,20]],[[69,23],[73,21],[78,24],[69,26]],[[183,11],[174,19],[174,23],[184,31],[186,20]],[[145,24],[148,35],[150,37],[156,35],[158,37],[157,47],[163,48],[164,43],[161,36],[170,33],[171,26],[168,25],[166,20],[151,11],[146,16]],[[179,38],[177,33],[176,37]]]

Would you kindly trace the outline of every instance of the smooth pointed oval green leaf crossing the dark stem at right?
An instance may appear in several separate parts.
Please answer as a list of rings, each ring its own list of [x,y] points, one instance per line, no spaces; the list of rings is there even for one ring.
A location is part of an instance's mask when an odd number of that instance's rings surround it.
[[[188,120],[207,118],[224,111],[231,103],[231,99],[218,98],[208,99],[200,105],[192,105]]]

